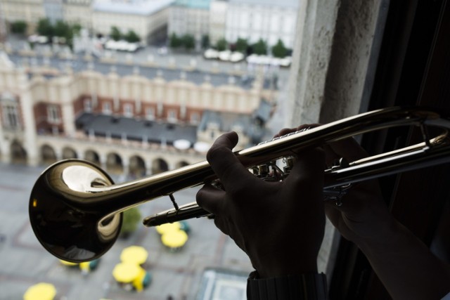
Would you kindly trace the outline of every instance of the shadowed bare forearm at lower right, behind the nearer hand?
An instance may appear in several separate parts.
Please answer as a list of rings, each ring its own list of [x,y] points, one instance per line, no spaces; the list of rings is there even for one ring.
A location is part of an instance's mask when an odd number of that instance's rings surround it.
[[[450,292],[450,266],[393,218],[382,227],[383,236],[355,242],[394,299],[441,299]]]

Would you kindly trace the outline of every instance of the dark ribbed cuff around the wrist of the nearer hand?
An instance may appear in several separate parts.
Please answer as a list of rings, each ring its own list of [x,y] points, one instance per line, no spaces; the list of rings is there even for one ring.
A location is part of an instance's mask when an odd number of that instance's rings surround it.
[[[310,273],[258,279],[257,272],[247,280],[248,300],[326,300],[326,275]]]

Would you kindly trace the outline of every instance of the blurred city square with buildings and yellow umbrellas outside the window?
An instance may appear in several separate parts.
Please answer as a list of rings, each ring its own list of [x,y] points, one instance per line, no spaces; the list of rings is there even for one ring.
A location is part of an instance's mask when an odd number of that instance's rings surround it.
[[[212,221],[173,224],[173,237],[141,225],[169,197],[126,211],[113,248],[75,265],[39,244],[27,206],[60,159],[120,183],[203,161],[226,131],[238,148],[270,139],[285,123],[299,7],[1,0],[0,299],[245,299],[250,261]]]

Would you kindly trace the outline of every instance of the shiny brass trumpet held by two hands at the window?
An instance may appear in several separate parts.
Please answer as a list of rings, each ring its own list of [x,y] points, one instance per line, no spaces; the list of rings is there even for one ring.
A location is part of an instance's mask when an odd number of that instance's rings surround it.
[[[234,153],[255,176],[264,179],[269,174],[281,174],[273,180],[283,180],[298,151],[393,126],[420,127],[423,142],[326,169],[323,193],[327,200],[339,204],[340,197],[354,183],[450,162],[450,119],[423,107],[389,107],[297,131]],[[431,137],[430,127],[439,129],[439,135]],[[283,170],[275,163],[280,159],[287,162]],[[195,202],[179,207],[172,194],[216,180],[210,164],[204,161],[114,184],[96,165],[65,159],[52,164],[37,178],[30,195],[30,223],[39,242],[54,256],[74,263],[90,261],[102,256],[117,240],[121,212],[143,202],[169,196],[174,204],[173,209],[144,219],[146,226],[209,216]]]

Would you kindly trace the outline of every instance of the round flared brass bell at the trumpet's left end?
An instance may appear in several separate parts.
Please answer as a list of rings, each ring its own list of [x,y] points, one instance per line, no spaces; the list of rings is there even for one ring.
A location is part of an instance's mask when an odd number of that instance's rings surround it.
[[[29,213],[34,234],[47,251],[79,263],[97,259],[113,246],[122,213],[98,209],[95,189],[105,185],[113,185],[108,174],[78,159],[57,162],[39,176]]]

